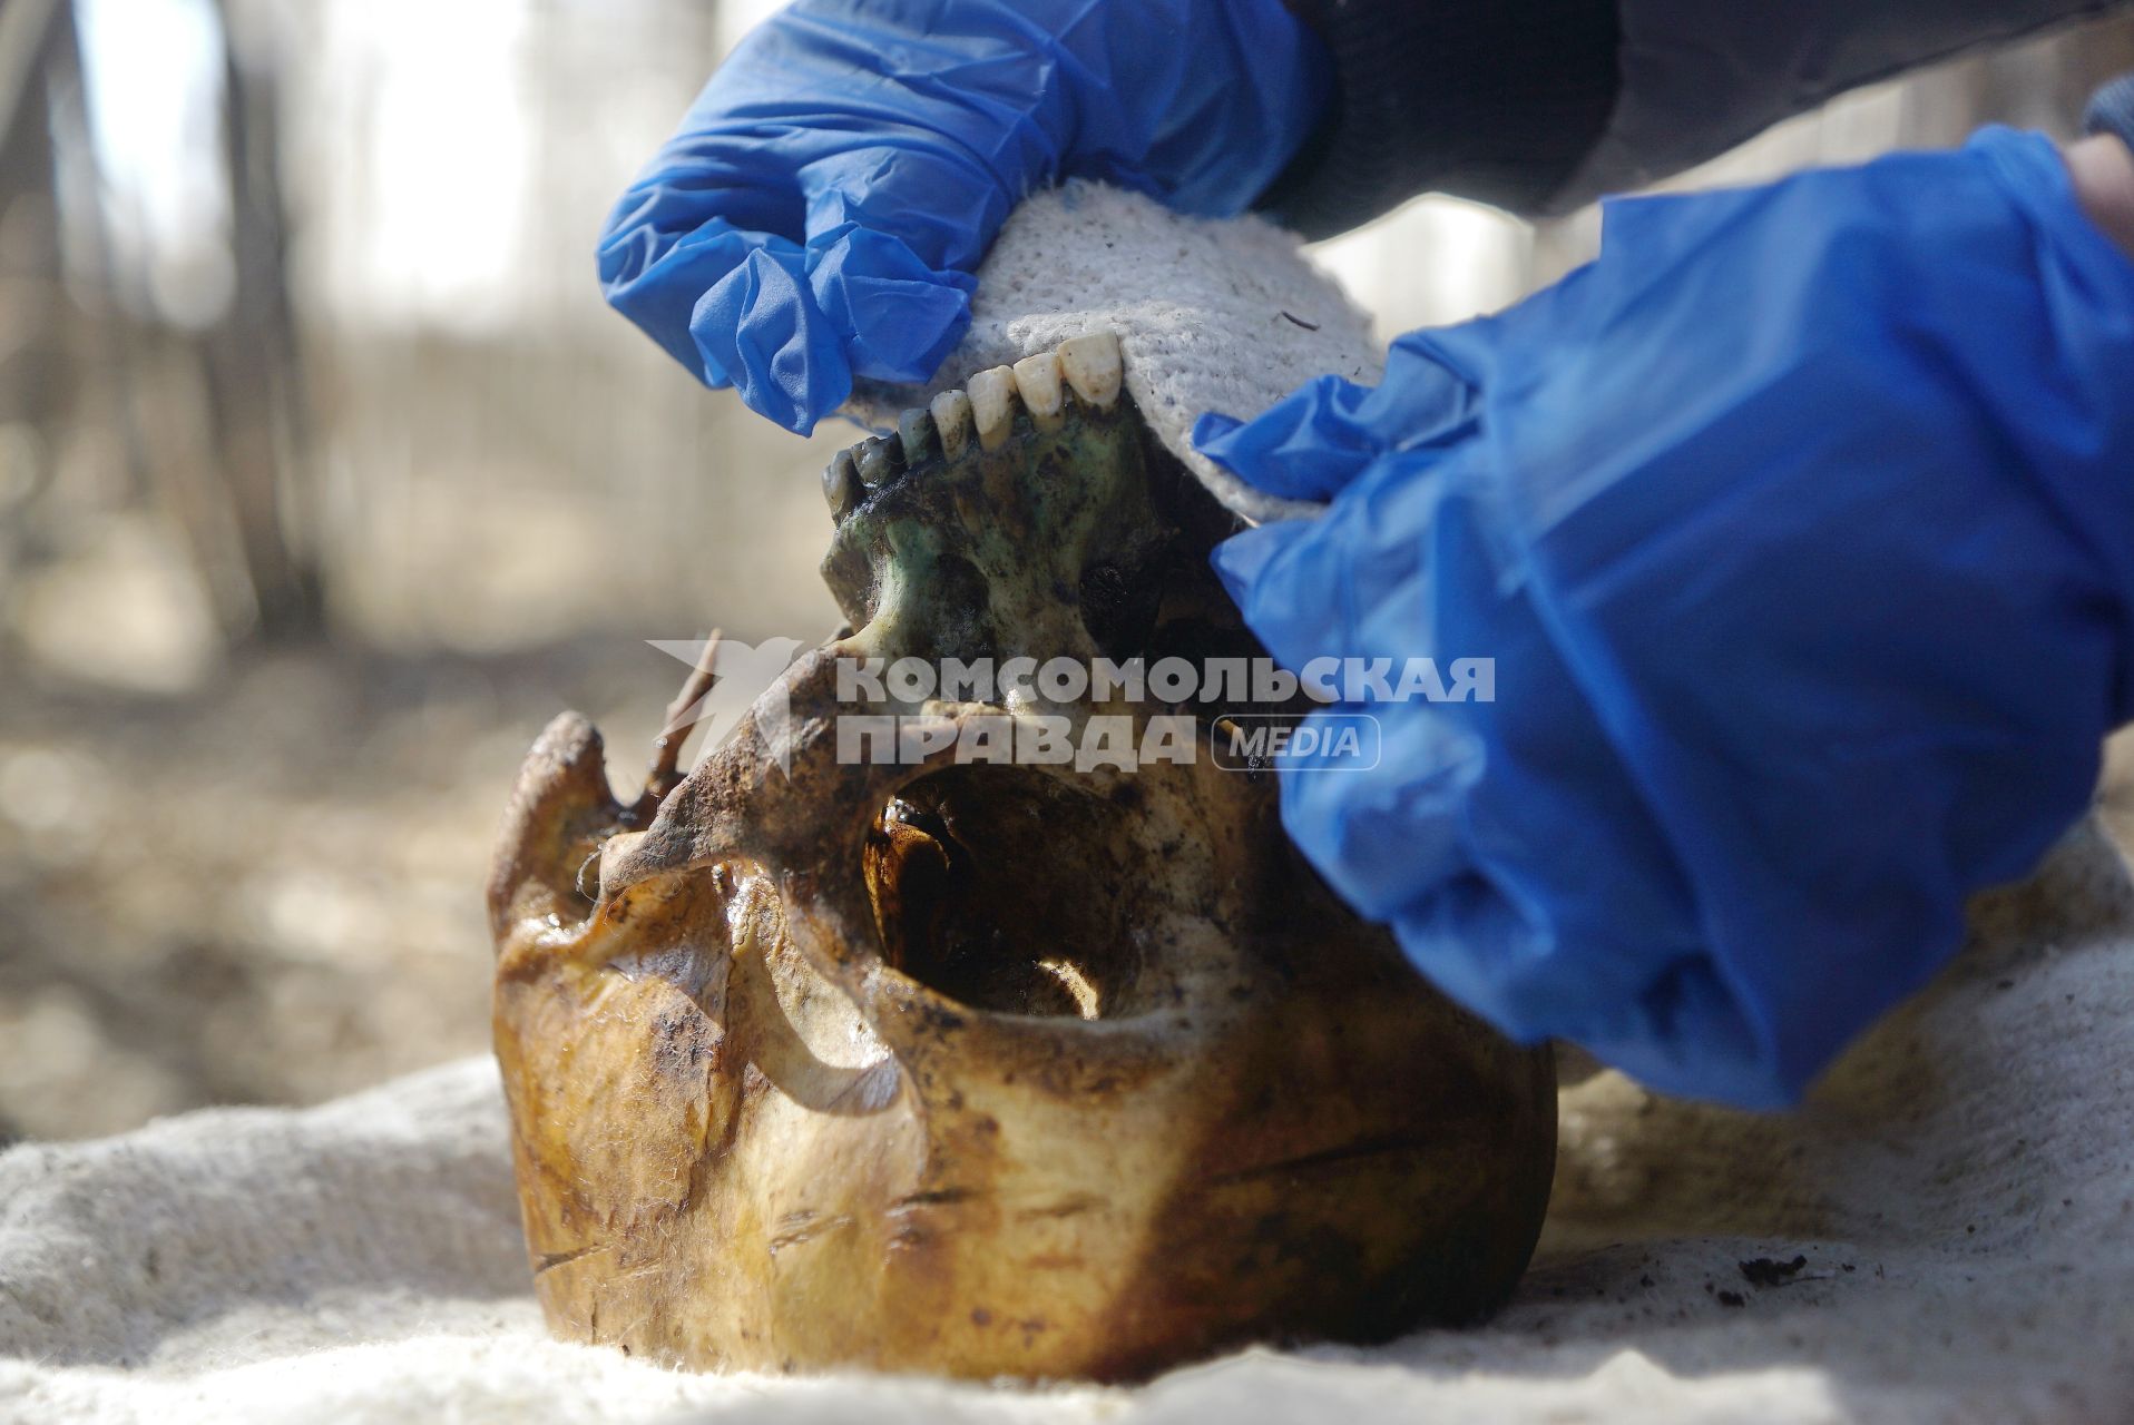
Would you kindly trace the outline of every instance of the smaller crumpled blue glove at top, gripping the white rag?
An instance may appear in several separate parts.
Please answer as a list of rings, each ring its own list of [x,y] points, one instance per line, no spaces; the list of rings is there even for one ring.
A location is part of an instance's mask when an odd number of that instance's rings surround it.
[[[1317,122],[1280,0],[800,0],[713,75],[608,218],[608,301],[708,386],[809,431],[922,382],[1014,205],[1095,177],[1238,213]]]

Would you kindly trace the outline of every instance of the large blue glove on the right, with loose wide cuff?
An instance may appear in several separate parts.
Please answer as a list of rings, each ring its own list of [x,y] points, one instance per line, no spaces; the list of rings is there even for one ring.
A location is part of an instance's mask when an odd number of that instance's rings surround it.
[[[1216,550],[1276,657],[1496,659],[1283,768],[1453,998],[1793,1101],[2089,804],[2134,715],[2134,265],[1987,130],[1615,203],[1598,262],[1201,448],[1332,497]],[[1317,717],[1357,708],[1332,708]]]

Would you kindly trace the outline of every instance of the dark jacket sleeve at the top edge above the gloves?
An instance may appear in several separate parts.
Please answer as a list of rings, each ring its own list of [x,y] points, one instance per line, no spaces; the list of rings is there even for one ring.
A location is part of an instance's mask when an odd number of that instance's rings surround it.
[[[1861,83],[2130,0],[1289,0],[1334,111],[1263,207],[1310,237],[1417,192],[1554,213]]]

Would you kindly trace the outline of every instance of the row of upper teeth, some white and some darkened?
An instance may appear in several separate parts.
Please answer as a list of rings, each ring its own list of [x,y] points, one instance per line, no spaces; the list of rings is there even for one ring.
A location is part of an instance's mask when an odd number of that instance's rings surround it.
[[[1118,401],[1120,378],[1118,335],[1110,331],[1067,337],[1056,350],[980,371],[962,390],[943,390],[930,405],[907,410],[896,420],[896,435],[839,450],[822,471],[830,514],[845,518],[866,491],[888,484],[896,471],[937,448],[956,459],[975,435],[980,450],[999,450],[1016,425],[1018,399],[1039,431],[1056,431],[1067,420],[1069,390],[1086,405],[1110,410]]]

